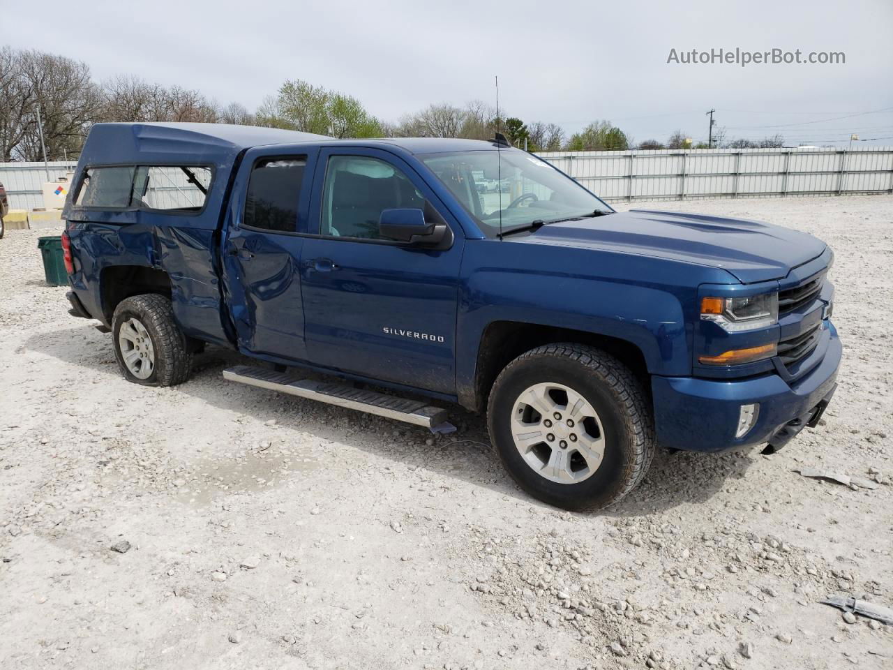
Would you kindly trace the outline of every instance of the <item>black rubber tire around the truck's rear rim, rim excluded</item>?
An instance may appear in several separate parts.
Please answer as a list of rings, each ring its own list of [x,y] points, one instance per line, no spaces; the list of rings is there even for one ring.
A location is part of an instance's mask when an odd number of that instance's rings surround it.
[[[130,372],[121,352],[121,326],[130,319],[142,323],[152,341],[154,370],[146,379],[140,379]],[[128,381],[144,386],[175,386],[187,381],[192,373],[188,340],[174,321],[173,307],[168,297],[146,293],[121,300],[112,318],[112,337],[118,367]]]

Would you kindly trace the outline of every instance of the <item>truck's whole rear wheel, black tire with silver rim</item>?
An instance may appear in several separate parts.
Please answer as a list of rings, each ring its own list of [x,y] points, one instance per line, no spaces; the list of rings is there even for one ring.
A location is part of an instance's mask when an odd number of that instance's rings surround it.
[[[112,319],[115,357],[128,381],[174,386],[192,369],[188,341],[173,318],[171,300],[146,294],[121,300]]]

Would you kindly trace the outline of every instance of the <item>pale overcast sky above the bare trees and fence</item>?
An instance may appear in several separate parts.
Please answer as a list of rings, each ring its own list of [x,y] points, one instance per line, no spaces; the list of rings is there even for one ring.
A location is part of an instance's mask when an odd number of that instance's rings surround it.
[[[97,80],[137,74],[250,110],[303,79],[396,121],[432,102],[491,103],[497,74],[506,114],[569,132],[608,119],[637,142],[677,129],[697,141],[714,107],[727,138],[893,145],[893,0],[0,0],[0,23],[0,42],[85,61]],[[672,48],[736,47],[846,63],[667,63]]]

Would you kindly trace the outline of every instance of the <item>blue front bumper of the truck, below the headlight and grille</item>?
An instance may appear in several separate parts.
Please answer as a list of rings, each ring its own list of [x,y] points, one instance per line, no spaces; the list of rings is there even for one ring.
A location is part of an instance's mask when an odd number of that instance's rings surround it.
[[[697,377],[651,378],[657,441],[688,451],[722,451],[772,442],[783,446],[824,409],[837,386],[842,346],[828,322],[830,339],[822,361],[796,382],[770,373],[744,380]],[[754,425],[735,437],[742,405],[759,403]],[[799,422],[799,423],[797,423]],[[796,429],[796,430],[794,430]]]

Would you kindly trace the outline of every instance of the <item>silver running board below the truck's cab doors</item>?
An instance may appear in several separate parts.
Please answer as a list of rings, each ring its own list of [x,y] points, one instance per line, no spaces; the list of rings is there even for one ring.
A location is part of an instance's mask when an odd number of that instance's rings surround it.
[[[371,415],[386,416],[405,423],[424,426],[434,433],[455,431],[455,426],[447,422],[447,410],[425,405],[418,400],[406,400],[386,396],[375,391],[354,389],[344,384],[330,381],[295,380],[286,373],[277,373],[251,365],[236,365],[223,371],[223,378],[238,381],[240,384],[270,389],[290,396],[310,398],[366,412]]]

